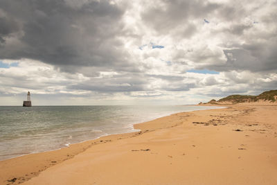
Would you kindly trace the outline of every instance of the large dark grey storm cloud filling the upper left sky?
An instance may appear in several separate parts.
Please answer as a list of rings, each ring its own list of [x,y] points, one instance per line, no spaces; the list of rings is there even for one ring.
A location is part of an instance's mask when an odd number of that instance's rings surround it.
[[[0,58],[30,58],[65,67],[125,66],[122,42],[116,39],[124,10],[109,1],[0,1]],[[7,18],[8,17],[8,18]],[[15,24],[17,23],[17,24]],[[10,33],[17,33],[10,35]]]

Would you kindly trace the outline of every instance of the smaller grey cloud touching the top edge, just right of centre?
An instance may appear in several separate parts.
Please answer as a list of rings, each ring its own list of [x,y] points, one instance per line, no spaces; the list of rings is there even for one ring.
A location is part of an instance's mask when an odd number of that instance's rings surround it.
[[[141,17],[158,34],[167,34],[178,26],[185,26],[179,34],[182,37],[190,37],[197,31],[190,20],[208,15],[218,6],[217,3],[203,1],[160,0],[143,12]]]

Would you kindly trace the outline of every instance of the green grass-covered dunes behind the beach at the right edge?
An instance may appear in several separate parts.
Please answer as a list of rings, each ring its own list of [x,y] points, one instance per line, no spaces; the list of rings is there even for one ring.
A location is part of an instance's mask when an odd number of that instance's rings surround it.
[[[256,102],[258,100],[269,100],[271,102],[275,102],[277,97],[277,90],[265,91],[258,96],[250,96],[250,95],[231,95],[226,98],[222,98],[217,102],[232,102],[232,103],[244,103],[244,102]]]

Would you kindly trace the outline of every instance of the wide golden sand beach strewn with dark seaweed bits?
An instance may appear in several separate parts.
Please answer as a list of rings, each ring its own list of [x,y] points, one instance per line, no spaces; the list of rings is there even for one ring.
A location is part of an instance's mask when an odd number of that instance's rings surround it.
[[[0,184],[277,184],[277,106],[232,105],[135,127],[141,132],[0,161]]]

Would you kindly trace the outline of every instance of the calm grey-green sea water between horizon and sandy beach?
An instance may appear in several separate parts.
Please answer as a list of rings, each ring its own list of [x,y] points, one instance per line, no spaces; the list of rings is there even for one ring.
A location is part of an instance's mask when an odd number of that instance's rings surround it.
[[[195,106],[0,107],[0,160],[69,146],[100,136],[134,132],[133,125]]]

